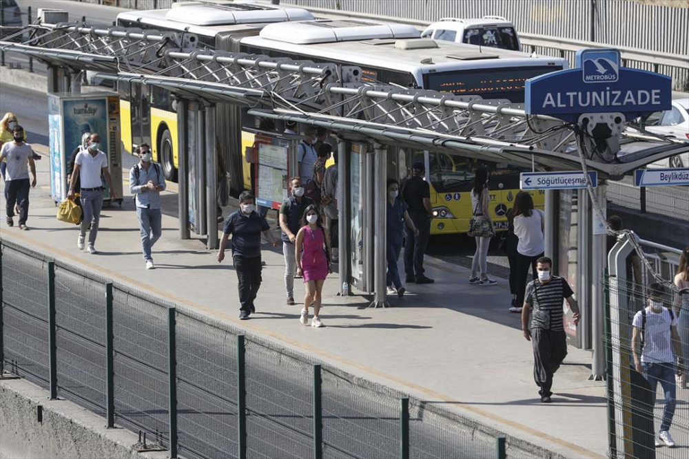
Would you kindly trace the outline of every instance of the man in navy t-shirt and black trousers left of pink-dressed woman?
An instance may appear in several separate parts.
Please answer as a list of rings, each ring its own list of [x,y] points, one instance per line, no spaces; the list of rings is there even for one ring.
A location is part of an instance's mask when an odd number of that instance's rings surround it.
[[[256,312],[254,300],[261,283],[260,235],[274,246],[278,246],[278,239],[273,237],[270,226],[265,217],[254,211],[254,194],[243,191],[239,195],[240,209],[227,217],[223,228],[223,239],[220,239],[218,263],[225,259],[225,248],[232,235],[232,259],[234,270],[237,272],[240,312],[239,318],[249,319],[251,312]]]

